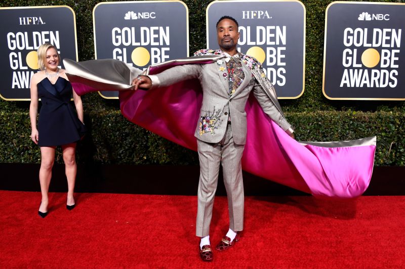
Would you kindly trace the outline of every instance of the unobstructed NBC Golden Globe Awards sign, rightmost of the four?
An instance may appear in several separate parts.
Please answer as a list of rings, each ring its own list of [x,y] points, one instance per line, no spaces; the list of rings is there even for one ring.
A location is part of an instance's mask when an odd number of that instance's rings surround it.
[[[323,94],[405,100],[405,4],[334,2],[326,11]]]

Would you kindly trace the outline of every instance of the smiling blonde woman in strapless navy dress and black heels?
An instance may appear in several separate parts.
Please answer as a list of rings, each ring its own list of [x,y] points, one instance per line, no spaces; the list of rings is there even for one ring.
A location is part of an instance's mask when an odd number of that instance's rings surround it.
[[[39,183],[41,184],[42,201],[38,214],[45,218],[48,213],[48,190],[52,177],[52,167],[55,160],[55,148],[61,146],[65,173],[67,178],[66,208],[73,209],[74,183],[76,180],[75,150],[76,142],[84,135],[82,99],[72,91],[64,69],[60,69],[60,56],[56,48],[45,43],[38,48],[39,72],[31,78],[31,104],[29,117],[31,119],[31,139],[41,147],[41,169]],[[74,113],[70,98],[76,107]],[[38,118],[38,98],[42,107]]]

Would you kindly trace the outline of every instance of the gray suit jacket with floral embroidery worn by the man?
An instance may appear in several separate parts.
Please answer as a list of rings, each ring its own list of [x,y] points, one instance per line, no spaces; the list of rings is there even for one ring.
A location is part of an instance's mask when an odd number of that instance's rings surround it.
[[[215,57],[220,59],[225,56]],[[245,79],[230,97],[225,61],[175,66],[159,74],[149,75],[149,77],[152,80],[152,88],[169,86],[187,79],[199,80],[203,88],[203,104],[194,135],[201,141],[208,143],[221,141],[226,131],[228,114],[230,114],[234,143],[244,145],[247,133],[245,106],[252,90],[263,111],[283,130],[291,133],[291,125],[280,110],[277,99],[272,98],[274,92],[270,93],[268,87],[262,86],[243,62],[242,68]],[[270,90],[274,90],[274,88]],[[207,117],[209,118],[208,126],[212,127],[211,131],[201,133],[201,124],[204,119],[207,123]]]

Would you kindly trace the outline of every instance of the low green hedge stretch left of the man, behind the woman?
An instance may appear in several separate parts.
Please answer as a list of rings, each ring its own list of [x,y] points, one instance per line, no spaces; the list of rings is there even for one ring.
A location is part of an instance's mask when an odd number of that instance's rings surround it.
[[[28,113],[0,114],[0,163],[39,163],[41,152],[30,138]],[[77,146],[77,162],[99,164],[197,164],[195,152],[136,126],[119,111],[85,116],[89,129]],[[60,150],[59,150],[60,151]],[[62,161],[61,152],[56,159]]]

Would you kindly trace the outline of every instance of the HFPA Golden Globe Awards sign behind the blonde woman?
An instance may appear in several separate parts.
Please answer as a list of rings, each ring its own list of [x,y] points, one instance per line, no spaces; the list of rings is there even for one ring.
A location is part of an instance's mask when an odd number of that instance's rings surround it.
[[[0,28],[3,99],[30,100],[30,80],[38,72],[36,50],[43,43],[52,43],[62,58],[77,61],[76,23],[71,8],[0,8],[0,22],[4,26]]]

